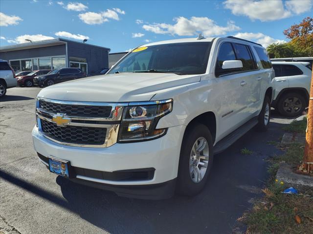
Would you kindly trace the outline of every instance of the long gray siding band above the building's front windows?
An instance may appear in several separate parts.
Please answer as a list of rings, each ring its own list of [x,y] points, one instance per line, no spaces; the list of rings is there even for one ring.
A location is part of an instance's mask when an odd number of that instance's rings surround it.
[[[50,57],[57,55],[66,55],[65,45],[55,45],[34,49],[16,50],[9,52],[1,52],[0,59],[13,60],[13,59],[30,59],[38,57]]]

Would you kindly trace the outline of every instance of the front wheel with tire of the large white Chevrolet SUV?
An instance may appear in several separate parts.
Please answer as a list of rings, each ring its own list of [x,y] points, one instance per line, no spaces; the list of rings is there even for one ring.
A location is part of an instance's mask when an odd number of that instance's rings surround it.
[[[203,140],[203,143],[206,141],[204,149],[200,154],[197,152],[198,154],[194,155],[193,146],[197,141],[199,148],[201,148],[201,140]],[[208,160],[205,158],[208,158]],[[213,140],[209,129],[203,124],[193,124],[187,127],[180,149],[177,192],[187,196],[199,194],[207,181],[212,163]],[[205,164],[206,168],[201,166]],[[199,174],[196,173],[198,171],[196,168],[199,169],[201,175],[197,178],[195,175]],[[200,178],[199,181],[198,178]]]

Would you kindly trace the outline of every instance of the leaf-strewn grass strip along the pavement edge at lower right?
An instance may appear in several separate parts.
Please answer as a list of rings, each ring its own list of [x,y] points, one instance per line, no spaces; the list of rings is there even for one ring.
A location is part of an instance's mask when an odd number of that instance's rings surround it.
[[[292,122],[286,131],[305,133],[307,120]],[[246,226],[246,234],[305,234],[313,233],[313,190],[303,194],[282,194],[287,187],[275,181],[279,163],[292,167],[300,164],[304,154],[304,142],[286,147],[281,156],[273,156],[268,168],[268,186],[265,196],[254,203],[253,209],[239,218]]]

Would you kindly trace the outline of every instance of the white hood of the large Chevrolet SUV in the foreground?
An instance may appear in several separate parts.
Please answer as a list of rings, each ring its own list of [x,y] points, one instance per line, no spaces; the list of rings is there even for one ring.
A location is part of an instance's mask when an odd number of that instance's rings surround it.
[[[200,81],[200,75],[166,73],[109,74],[49,86],[38,97],[67,101],[148,101],[156,93]]]

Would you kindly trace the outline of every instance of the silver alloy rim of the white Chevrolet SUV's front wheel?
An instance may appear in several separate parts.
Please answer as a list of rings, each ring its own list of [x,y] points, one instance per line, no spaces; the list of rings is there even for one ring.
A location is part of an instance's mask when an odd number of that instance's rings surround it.
[[[194,183],[199,183],[205,176],[209,162],[209,145],[204,137],[199,137],[190,153],[189,174]]]

